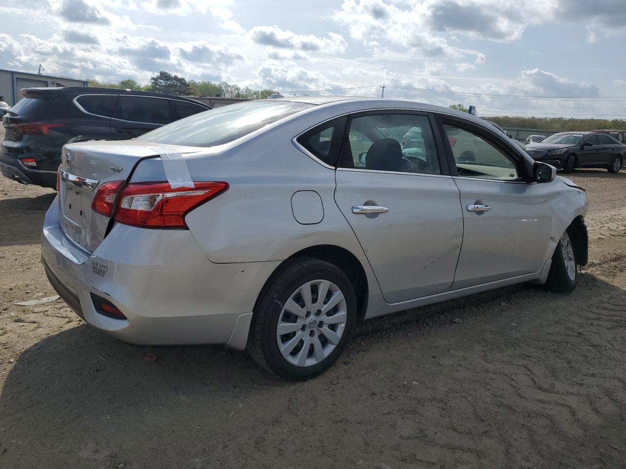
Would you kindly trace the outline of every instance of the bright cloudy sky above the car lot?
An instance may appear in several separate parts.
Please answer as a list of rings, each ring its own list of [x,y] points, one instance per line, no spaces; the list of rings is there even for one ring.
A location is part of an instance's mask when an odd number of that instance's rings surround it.
[[[482,115],[626,119],[625,0],[0,0],[0,18],[5,69],[284,94],[384,84]]]

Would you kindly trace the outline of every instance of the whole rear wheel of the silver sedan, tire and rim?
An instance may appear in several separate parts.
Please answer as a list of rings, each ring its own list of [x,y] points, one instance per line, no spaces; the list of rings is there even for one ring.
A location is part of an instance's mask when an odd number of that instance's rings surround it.
[[[246,348],[279,378],[313,378],[346,349],[356,310],[356,296],[343,271],[326,261],[303,258],[285,266],[265,288]]]

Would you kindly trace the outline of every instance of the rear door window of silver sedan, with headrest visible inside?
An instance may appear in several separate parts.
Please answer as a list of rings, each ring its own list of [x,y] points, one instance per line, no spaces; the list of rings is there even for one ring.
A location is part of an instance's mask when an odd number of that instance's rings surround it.
[[[373,114],[353,118],[342,167],[441,174],[428,117],[416,114]]]

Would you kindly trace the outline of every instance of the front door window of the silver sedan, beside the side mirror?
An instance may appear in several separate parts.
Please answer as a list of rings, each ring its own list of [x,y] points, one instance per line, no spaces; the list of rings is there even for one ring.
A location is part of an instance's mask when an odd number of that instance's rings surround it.
[[[475,133],[445,126],[459,176],[515,181],[520,178],[510,156]]]

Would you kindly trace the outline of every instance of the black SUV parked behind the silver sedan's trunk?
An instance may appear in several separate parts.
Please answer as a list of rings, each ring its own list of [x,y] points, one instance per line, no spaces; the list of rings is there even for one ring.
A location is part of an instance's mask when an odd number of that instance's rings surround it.
[[[127,140],[210,106],[170,94],[111,88],[24,88],[3,117],[0,171],[56,188],[61,148],[71,141]]]

